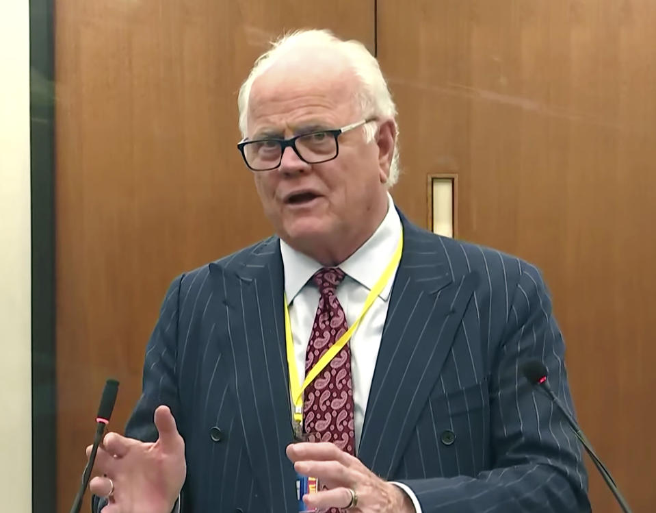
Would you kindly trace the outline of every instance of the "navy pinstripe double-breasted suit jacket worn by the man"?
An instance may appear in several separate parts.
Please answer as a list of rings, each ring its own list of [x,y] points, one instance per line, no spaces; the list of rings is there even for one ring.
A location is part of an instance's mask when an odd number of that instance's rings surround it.
[[[519,371],[545,362],[572,408],[540,274],[402,222],[358,458],[410,486],[425,513],[590,510],[576,438]],[[287,376],[277,237],[173,281],[126,434],[155,440],[153,412],[170,406],[186,444],[183,512],[295,511]]]

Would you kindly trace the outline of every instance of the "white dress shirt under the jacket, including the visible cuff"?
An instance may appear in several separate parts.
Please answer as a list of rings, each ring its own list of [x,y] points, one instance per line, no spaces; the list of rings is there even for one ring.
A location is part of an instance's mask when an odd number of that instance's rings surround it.
[[[349,326],[353,325],[363,310],[367,295],[380,279],[384,269],[389,264],[402,236],[402,225],[399,214],[394,208],[392,197],[388,195],[389,205],[382,223],[373,235],[347,260],[339,264],[345,273],[344,280],[337,287],[337,299],[341,304]],[[280,252],[285,268],[285,293],[289,308],[289,321],[293,338],[294,354],[298,381],[305,379],[305,355],[310,334],[319,304],[319,289],[311,281],[311,277],[323,266],[304,253],[296,251],[286,242],[280,240]],[[398,268],[398,266],[397,266]],[[353,385],[355,447],[356,454],[360,447],[360,438],[367,411],[369,390],[373,380],[373,370],[378,359],[382,329],[387,317],[389,297],[396,276],[397,268],[393,269],[390,279],[380,291],[371,308],[360,321],[349,344],[351,349],[351,379]],[[291,401],[291,397],[290,397]],[[397,484],[397,483],[395,483]],[[412,491],[397,484],[410,495],[415,503],[417,513],[421,513],[417,497]]]

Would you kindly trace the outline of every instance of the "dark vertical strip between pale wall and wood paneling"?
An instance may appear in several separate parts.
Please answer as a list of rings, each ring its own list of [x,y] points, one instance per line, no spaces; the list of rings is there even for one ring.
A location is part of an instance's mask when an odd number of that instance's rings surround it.
[[[56,505],[53,0],[29,1],[32,512]]]

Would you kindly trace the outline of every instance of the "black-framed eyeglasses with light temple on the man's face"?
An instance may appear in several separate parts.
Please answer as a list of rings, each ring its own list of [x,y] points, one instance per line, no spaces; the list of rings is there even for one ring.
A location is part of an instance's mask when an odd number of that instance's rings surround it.
[[[271,171],[283,162],[283,152],[288,146],[302,161],[308,164],[328,162],[339,155],[337,138],[349,130],[375,121],[376,118],[363,119],[345,127],[319,130],[309,134],[300,134],[289,139],[265,138],[242,140],[237,145],[244,162],[252,171]]]

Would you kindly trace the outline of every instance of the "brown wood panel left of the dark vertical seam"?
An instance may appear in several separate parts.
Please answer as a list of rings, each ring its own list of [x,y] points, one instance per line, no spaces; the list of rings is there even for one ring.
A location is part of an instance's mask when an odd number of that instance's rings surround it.
[[[108,376],[121,381],[111,426],[122,431],[170,281],[271,232],[236,149],[237,90],[254,58],[301,27],[373,50],[373,5],[57,4],[59,512],[73,501]]]

